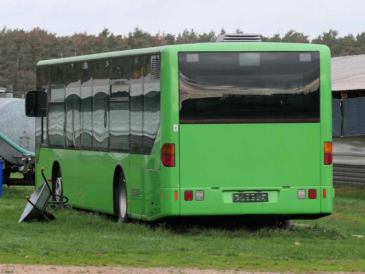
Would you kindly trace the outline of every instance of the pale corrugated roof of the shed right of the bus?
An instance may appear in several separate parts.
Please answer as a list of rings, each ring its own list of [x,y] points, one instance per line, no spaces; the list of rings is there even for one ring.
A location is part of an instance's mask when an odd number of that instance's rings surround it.
[[[333,91],[365,90],[365,54],[331,58]]]

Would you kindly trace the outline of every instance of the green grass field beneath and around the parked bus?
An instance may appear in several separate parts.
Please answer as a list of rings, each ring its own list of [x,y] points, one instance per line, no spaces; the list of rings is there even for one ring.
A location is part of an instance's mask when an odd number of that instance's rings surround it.
[[[365,271],[365,188],[336,186],[334,214],[293,231],[182,223],[121,224],[110,216],[50,209],[53,222],[22,222],[34,187],[3,186],[0,263],[197,267],[258,271]],[[309,226],[304,226],[308,224]]]

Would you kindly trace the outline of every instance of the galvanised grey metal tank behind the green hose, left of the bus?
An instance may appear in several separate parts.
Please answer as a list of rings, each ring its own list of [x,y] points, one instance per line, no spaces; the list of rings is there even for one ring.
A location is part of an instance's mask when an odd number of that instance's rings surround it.
[[[28,151],[35,151],[35,118],[26,117],[25,100],[0,97],[0,132]],[[9,172],[18,172],[23,165],[22,153],[0,139],[0,157],[5,161],[4,178]],[[31,160],[34,166],[34,159]]]

